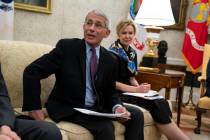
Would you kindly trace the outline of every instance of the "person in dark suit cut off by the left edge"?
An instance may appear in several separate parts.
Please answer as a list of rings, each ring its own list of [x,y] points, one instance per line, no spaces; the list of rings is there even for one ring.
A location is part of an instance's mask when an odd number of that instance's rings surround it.
[[[0,140],[61,140],[52,123],[15,118],[7,88],[0,71]]]

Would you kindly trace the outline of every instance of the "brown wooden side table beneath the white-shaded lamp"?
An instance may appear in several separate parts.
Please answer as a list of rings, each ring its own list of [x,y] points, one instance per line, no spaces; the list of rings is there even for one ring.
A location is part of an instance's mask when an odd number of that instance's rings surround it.
[[[179,71],[166,70],[165,73],[138,71],[136,80],[139,83],[150,83],[151,89],[159,91],[166,89],[165,98],[169,99],[170,89],[177,88],[178,109],[177,109],[177,125],[180,123],[181,105],[183,96],[185,74]]]

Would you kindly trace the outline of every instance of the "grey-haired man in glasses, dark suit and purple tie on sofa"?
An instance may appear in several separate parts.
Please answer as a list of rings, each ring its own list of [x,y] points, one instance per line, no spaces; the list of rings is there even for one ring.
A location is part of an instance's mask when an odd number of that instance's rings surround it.
[[[100,43],[110,34],[109,20],[100,10],[90,11],[83,24],[84,39],[62,39],[56,48],[26,67],[24,111],[44,119],[40,102],[40,80],[55,74],[55,86],[46,103],[56,122],[69,121],[87,128],[95,140],[114,140],[114,127],[108,118],[94,117],[74,110],[124,113],[117,118],[126,127],[126,140],[143,140],[143,113],[124,107],[115,90],[117,61]]]

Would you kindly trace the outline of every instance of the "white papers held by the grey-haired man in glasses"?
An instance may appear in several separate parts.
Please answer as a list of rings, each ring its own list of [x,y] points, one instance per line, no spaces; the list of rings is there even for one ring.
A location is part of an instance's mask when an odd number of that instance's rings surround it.
[[[74,109],[81,113],[87,114],[87,115],[101,116],[101,117],[107,117],[107,118],[123,117],[123,114],[124,114],[124,113],[118,113],[118,114],[100,113],[100,112],[96,112],[96,111],[92,111],[92,110],[88,110],[88,109],[84,109],[84,108],[74,108]]]

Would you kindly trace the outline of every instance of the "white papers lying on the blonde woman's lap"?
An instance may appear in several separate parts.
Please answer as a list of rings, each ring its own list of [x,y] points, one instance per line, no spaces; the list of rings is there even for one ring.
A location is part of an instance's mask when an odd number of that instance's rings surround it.
[[[148,100],[154,99],[163,99],[163,96],[160,96],[157,91],[149,90],[147,93],[132,93],[132,92],[125,92],[124,95],[140,97]]]

